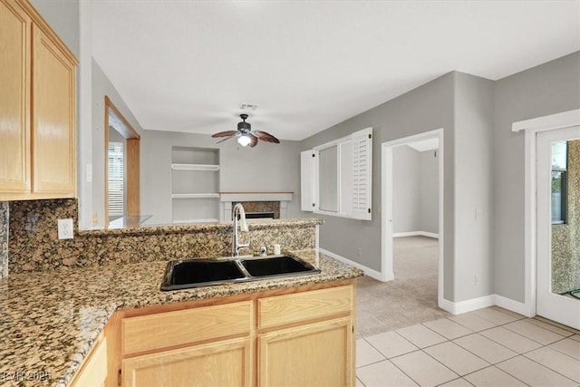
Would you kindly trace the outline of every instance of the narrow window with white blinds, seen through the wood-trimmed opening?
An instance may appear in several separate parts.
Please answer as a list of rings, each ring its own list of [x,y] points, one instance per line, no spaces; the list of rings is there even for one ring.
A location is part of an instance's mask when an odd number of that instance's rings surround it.
[[[123,143],[109,142],[109,218],[124,214]]]

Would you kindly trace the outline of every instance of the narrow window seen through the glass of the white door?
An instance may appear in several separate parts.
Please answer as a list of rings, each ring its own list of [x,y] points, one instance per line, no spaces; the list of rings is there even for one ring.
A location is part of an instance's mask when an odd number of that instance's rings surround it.
[[[552,224],[562,225],[567,215],[567,142],[552,142]]]

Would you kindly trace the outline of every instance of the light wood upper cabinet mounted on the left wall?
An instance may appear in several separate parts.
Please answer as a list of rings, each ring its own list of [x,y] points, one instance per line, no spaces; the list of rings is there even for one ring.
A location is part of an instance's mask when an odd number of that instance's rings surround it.
[[[0,0],[0,200],[74,198],[74,58],[34,7]]]

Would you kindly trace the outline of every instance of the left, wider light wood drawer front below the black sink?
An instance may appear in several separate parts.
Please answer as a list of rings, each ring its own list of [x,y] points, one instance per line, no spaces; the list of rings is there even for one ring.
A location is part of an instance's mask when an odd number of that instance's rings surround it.
[[[129,317],[121,323],[122,353],[246,334],[251,325],[251,301]]]

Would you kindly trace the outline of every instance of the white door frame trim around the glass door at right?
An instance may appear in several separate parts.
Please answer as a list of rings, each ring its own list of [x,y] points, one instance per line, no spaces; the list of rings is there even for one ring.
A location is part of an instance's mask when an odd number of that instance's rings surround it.
[[[536,134],[580,125],[580,109],[563,111],[534,119],[517,121],[511,131],[524,131],[525,138],[525,183],[524,183],[524,303],[514,301],[511,310],[527,317],[536,315]]]

